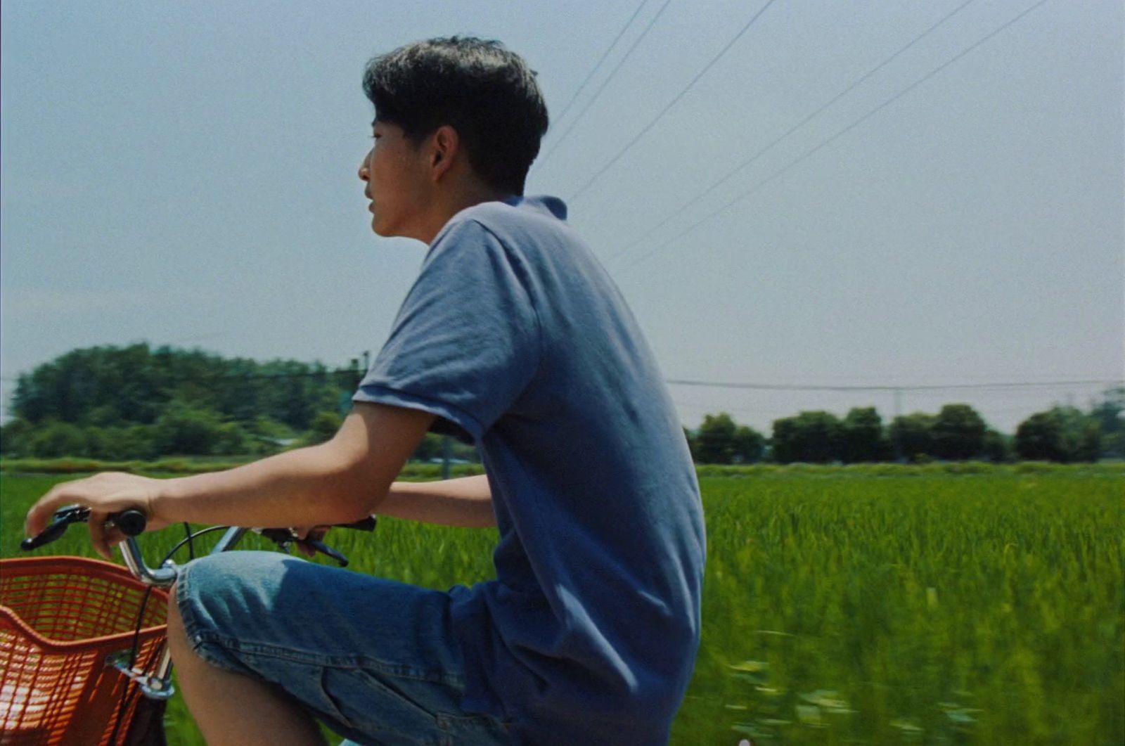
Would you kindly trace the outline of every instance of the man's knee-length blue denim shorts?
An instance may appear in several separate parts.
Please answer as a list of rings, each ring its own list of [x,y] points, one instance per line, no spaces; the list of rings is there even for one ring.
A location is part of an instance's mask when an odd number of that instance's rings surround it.
[[[461,710],[449,595],[273,551],[188,563],[177,603],[196,654],[278,684],[358,744],[505,744]]]

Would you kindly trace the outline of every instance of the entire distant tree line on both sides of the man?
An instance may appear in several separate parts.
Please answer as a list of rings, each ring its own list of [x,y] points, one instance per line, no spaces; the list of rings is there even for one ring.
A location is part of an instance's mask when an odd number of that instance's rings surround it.
[[[107,460],[162,456],[263,456],[323,442],[340,428],[358,367],[330,370],[295,360],[258,362],[171,347],[72,350],[20,375],[14,420],[0,428],[8,457]],[[684,431],[700,464],[924,461],[1094,461],[1125,458],[1125,387],[1088,412],[1056,406],[1022,422],[1014,437],[989,428],[968,404],[916,412],[884,425],[874,407],[843,419],[801,412],[767,438],[727,413]],[[471,446],[428,434],[413,458],[478,460]]]

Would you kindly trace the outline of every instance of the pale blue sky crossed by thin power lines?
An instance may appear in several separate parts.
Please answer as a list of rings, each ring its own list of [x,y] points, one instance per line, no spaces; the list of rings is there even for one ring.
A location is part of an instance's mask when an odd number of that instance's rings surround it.
[[[1122,378],[1117,0],[1048,0],[837,136],[1035,5],[970,2],[646,236],[963,1],[775,0],[569,200],[668,378]],[[672,0],[657,17],[664,0],[648,0],[552,117],[544,154],[656,18],[533,168],[529,194],[578,192],[765,2]],[[377,351],[424,246],[368,227],[356,178],[367,59],[432,36],[497,38],[539,72],[557,116],[638,3],[4,2],[4,396],[19,372],[93,344],[330,366]],[[1010,432],[1098,390],[915,393],[901,406],[968,401]],[[802,408],[893,413],[883,393],[675,386],[673,397],[692,426],[720,410],[764,431]]]

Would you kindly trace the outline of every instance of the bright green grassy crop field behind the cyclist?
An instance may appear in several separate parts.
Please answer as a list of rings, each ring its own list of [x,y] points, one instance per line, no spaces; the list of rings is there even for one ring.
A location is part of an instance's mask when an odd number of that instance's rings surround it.
[[[703,641],[674,744],[1125,743],[1125,473],[933,466],[701,469]],[[0,556],[63,478],[0,477]],[[37,554],[92,556],[73,533]],[[429,587],[492,574],[492,530],[330,538]],[[169,731],[201,743],[178,701]]]

